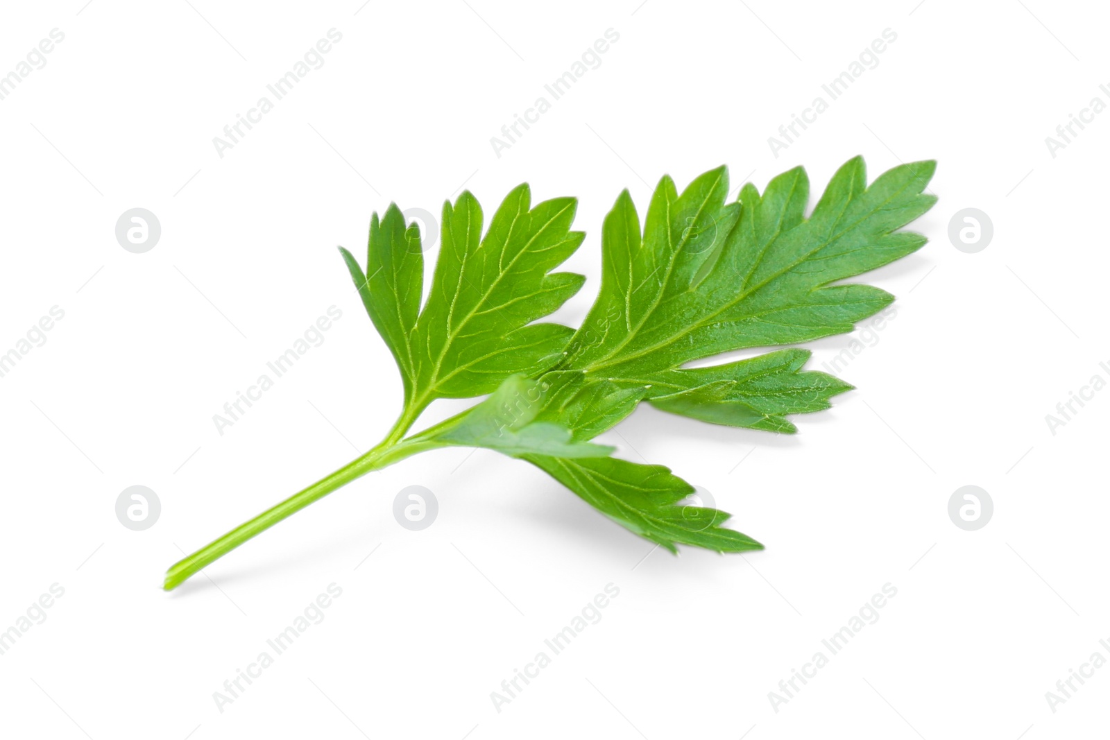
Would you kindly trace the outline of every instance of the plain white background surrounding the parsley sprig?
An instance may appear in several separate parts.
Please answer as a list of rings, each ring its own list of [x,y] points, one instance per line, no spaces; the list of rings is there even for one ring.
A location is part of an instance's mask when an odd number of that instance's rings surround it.
[[[51,29],[64,41],[0,101],[0,352],[52,306],[65,315],[0,378],[0,630],[52,584],[64,596],[0,656],[0,732],[1104,732],[1110,668],[1056,712],[1045,695],[1110,658],[1110,392],[1054,435],[1046,415],[1110,379],[1110,114],[1054,158],[1045,139],[1110,102],[1108,19],[1094,3],[915,2],[9,6],[0,73]],[[324,65],[220,158],[213,136],[332,28]],[[498,158],[491,136],[610,28],[602,64]],[[884,29],[897,40],[878,65],[776,158],[768,136]],[[930,243],[866,277],[898,301],[839,372],[859,389],[795,417],[796,436],[642,408],[603,438],[703,486],[765,551],[653,551],[538,470],[454,449],[360,479],[160,589],[183,551],[391,426],[401,384],[335,251],[363,255],[372,211],[437,213],[464,183],[487,213],[522,181],[536,200],[577,196],[587,237],[567,267],[589,282],[557,314],[575,323],[623,187],[643,207],[664,173],[682,186],[726,163],[735,186],[763,187],[804,164],[816,201],[859,153],[871,178],[937,159],[940,197],[914,225]],[[144,254],[115,240],[132,207],[161,223]],[[948,239],[965,207],[993,222],[976,254]],[[213,414],[332,305],[325,342],[218,434]],[[850,342],[815,343],[809,366]],[[145,531],[115,518],[131,485],[161,499]],[[440,501],[423,531],[392,515],[408,485]],[[993,499],[978,531],[948,517],[963,485]],[[213,692],[333,582],[325,619],[221,712]],[[496,711],[491,692],[610,582],[603,619]],[[821,640],[885,584],[897,596],[878,621],[775,711],[768,692],[828,656]]]

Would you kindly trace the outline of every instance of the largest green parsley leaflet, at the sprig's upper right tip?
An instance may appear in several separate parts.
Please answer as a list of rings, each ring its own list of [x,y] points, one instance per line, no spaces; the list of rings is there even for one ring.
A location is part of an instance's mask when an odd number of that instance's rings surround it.
[[[897,230],[936,202],[922,194],[935,166],[904,164],[867,187],[862,159],[850,160],[808,220],[801,168],[775,178],[763,196],[745,185],[729,204],[724,169],[682,195],[664,178],[643,235],[625,191],[605,219],[601,293],[558,369],[578,371],[583,384],[638,384],[653,405],[676,414],[793,432],[781,414],[825,408],[850,388],[820,373],[795,374],[808,355],[683,365],[850,332],[889,305],[894,296],[877,287],[834,283],[925,245]]]

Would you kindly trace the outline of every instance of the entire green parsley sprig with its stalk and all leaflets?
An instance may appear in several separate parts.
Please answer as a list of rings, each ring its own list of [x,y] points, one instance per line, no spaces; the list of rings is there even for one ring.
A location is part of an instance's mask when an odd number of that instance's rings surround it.
[[[669,469],[612,456],[591,440],[642,402],[727,426],[793,433],[787,418],[828,408],[851,388],[803,369],[787,348],[689,367],[723,353],[850,332],[894,300],[840,281],[919,250],[900,231],[936,202],[934,162],[894,168],[870,185],[861,158],[834,175],[809,216],[809,180],[797,168],[760,195],[746,184],[727,202],[728,173],[712,170],[682,193],[659,181],[646,216],[628,191],[602,227],[602,284],[575,331],[536,323],[574,295],[581,275],[552,272],[581,244],[576,202],[531,205],[513,190],[483,235],[468,192],[443,207],[443,243],[421,306],[418,229],[396,205],[371,221],[366,268],[341,251],[404,386],[397,423],[376,447],[214,540],[167,574],[172,589],[278,521],[371,470],[427,449],[471,446],[532,463],[601,513],[672,551],[760,549],[724,527],[728,514],[684,504],[693,487]],[[424,432],[405,434],[437,398],[490,394]]]

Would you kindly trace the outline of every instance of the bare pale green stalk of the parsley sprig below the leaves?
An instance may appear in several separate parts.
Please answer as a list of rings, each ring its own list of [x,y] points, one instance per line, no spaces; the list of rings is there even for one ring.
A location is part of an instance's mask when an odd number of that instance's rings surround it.
[[[408,439],[401,439],[407,428],[412,425],[413,420],[415,420],[415,417],[418,415],[420,410],[415,410],[415,413],[412,413],[412,410],[406,412],[400,419],[397,419],[397,423],[390,432],[390,435],[383,439],[380,445],[371,449],[362,457],[347,463],[339,470],[321,478],[304,490],[290,496],[281,504],[266,509],[250,521],[241,524],[226,535],[212,540],[192,555],[189,555],[182,560],[179,560],[170,566],[170,569],[165,571],[165,582],[162,588],[168,591],[173,590],[183,584],[185,579],[195,575],[201,569],[208,567],[246,540],[262,534],[282,519],[296,514],[305,506],[314,501],[319,501],[327,494],[332,493],[336,488],[345,486],[355,478],[364,476],[372,470],[381,470],[382,468],[393,465],[410,455],[415,455],[416,453],[438,447],[438,444],[428,442],[424,435],[415,435]]]

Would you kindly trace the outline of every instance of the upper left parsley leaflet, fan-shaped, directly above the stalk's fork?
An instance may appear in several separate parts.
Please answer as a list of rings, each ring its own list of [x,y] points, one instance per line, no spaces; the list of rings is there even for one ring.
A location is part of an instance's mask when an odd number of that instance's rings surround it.
[[[572,232],[577,202],[557,197],[531,207],[521,185],[482,234],[482,206],[464,192],[443,205],[442,246],[432,288],[420,308],[424,261],[420,235],[391,205],[371,221],[366,272],[342,250],[366,311],[390,346],[418,415],[436,398],[491,393],[507,377],[554,364],[573,331],[532,322],[578,292],[585,277],[551,273],[585,234]]]

